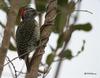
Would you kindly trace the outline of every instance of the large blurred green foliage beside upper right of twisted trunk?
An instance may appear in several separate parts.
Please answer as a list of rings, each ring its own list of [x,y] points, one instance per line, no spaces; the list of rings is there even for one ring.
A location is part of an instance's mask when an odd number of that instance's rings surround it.
[[[66,26],[67,16],[69,16],[75,10],[75,2],[68,0],[58,0],[57,16],[55,19],[55,25],[53,32],[62,33]]]

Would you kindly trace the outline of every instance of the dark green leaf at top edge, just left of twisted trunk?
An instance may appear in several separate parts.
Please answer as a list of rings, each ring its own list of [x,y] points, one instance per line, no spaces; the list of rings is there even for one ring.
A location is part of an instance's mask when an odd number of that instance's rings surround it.
[[[38,12],[44,13],[46,11],[47,0],[35,0],[35,6]]]

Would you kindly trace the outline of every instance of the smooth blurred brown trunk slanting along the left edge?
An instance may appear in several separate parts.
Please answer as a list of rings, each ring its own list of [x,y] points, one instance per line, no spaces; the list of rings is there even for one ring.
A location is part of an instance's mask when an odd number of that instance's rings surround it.
[[[18,11],[18,8],[16,8],[17,5],[15,5],[14,1],[12,1],[12,6],[9,9],[8,17],[7,17],[7,24],[4,30],[4,37],[2,41],[2,46],[0,47],[0,65],[2,66],[4,64],[4,60],[7,54],[7,49],[9,47],[9,41],[10,36],[12,32],[12,28],[15,25],[16,20],[16,12]],[[0,66],[0,77],[2,75],[3,67]]]

